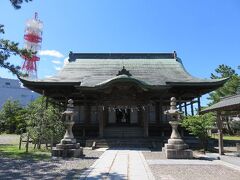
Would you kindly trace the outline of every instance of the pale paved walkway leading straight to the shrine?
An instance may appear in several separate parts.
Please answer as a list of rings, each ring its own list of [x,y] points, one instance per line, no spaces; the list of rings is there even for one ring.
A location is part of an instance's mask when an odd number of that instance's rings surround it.
[[[141,150],[110,149],[80,179],[153,180],[154,177]]]

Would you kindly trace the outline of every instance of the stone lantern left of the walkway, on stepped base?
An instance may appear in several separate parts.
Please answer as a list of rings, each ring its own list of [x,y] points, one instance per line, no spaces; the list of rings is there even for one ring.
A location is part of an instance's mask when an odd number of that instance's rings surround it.
[[[64,138],[60,144],[56,145],[56,148],[52,150],[52,156],[56,157],[79,157],[83,154],[83,150],[79,143],[76,143],[76,139],[72,133],[72,127],[74,125],[74,105],[73,100],[68,100],[67,110],[62,113],[65,115],[65,128],[66,132]]]

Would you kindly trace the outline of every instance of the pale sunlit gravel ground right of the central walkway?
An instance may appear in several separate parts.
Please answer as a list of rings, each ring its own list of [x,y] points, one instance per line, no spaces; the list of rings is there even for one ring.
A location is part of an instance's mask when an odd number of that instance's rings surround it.
[[[166,160],[162,152],[143,152],[146,160]],[[240,172],[226,166],[209,165],[149,165],[156,179],[164,180],[239,180]]]

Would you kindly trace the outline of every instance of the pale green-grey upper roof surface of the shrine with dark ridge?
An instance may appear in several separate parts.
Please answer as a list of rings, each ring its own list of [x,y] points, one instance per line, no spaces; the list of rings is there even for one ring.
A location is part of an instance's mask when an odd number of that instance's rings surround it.
[[[59,74],[43,81],[81,82],[81,86],[95,87],[114,79],[123,66],[132,78],[150,86],[216,82],[191,76],[175,53],[70,53],[69,63]]]

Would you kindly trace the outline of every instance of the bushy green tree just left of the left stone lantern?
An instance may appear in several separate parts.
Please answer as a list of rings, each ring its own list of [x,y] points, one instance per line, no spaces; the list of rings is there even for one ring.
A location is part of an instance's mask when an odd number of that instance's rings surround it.
[[[45,98],[39,97],[27,108],[27,131],[30,137],[38,142],[38,147],[45,141],[53,138],[59,141],[64,134],[64,124],[61,121],[61,112],[52,104],[45,106]]]

